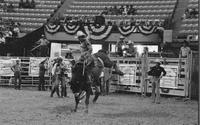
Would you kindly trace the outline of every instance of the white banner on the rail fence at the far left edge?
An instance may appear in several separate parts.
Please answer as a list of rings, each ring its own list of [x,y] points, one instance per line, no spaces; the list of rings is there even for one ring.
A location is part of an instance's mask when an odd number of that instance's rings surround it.
[[[16,64],[17,58],[0,58],[0,76],[14,76],[11,67]]]

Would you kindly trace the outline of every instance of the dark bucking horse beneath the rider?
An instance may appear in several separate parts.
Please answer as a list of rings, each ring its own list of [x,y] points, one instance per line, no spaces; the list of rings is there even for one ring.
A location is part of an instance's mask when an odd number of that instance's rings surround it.
[[[100,64],[100,65],[99,65]],[[90,95],[93,94],[92,87],[95,89],[94,93],[94,99],[93,103],[95,103],[100,95],[100,75],[103,71],[103,65],[101,62],[97,59],[94,61],[94,65],[91,68],[91,81],[92,84],[89,84],[87,82],[88,74],[87,74],[88,67],[84,65],[83,62],[77,62],[75,66],[72,69],[72,80],[70,82],[71,90],[74,93],[75,96],[75,109],[74,112],[77,111],[78,104],[80,100],[83,98],[82,93],[83,91],[86,92],[86,99],[85,99],[85,105],[86,110],[85,112],[88,112],[88,105],[89,105],[89,98]]]

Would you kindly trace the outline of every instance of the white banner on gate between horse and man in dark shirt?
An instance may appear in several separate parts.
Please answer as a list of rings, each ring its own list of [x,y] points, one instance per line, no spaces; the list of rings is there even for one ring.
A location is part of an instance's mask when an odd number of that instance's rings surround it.
[[[119,64],[119,69],[124,73],[120,76],[119,84],[136,85],[136,65],[135,64]]]

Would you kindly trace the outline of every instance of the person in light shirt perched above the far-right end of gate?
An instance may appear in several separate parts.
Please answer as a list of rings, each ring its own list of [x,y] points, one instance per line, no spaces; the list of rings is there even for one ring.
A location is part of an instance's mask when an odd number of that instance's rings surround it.
[[[191,49],[187,41],[184,41],[183,46],[180,49],[179,58],[187,58]]]

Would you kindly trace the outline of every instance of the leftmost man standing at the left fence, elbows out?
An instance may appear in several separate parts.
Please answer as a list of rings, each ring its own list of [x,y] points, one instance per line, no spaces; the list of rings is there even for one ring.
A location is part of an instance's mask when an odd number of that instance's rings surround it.
[[[15,89],[21,89],[21,66],[19,60],[16,60],[16,64],[11,67],[11,70],[14,72],[15,78]]]

